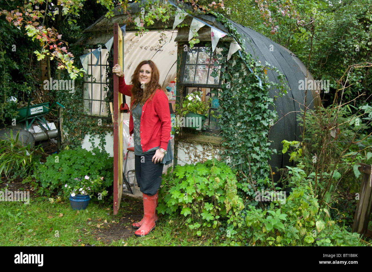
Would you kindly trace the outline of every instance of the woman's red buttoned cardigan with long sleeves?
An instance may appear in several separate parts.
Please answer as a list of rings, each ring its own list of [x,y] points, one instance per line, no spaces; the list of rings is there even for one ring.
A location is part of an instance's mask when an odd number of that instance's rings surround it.
[[[122,94],[132,96],[132,85],[126,85],[124,76],[119,77],[119,92]],[[134,102],[134,101],[133,101]],[[131,104],[131,108],[133,105]],[[133,134],[133,117],[129,118],[129,134]],[[142,107],[141,115],[141,147],[142,151],[160,146],[167,150],[168,142],[170,140],[170,111],[169,102],[166,94],[161,89],[157,89],[155,94],[147,99],[145,105]]]

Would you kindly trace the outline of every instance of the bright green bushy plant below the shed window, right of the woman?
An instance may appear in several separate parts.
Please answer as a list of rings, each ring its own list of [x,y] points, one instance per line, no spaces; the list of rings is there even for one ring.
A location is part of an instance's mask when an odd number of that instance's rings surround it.
[[[237,196],[235,173],[216,159],[195,165],[177,165],[163,177],[157,210],[162,214],[182,214],[190,229],[216,228],[221,219],[241,226],[238,212],[244,208]],[[201,231],[197,231],[201,235]]]

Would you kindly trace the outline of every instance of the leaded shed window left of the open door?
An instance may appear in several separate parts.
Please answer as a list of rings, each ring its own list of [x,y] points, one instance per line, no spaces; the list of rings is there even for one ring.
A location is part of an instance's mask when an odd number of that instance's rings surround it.
[[[94,50],[94,49],[93,49]],[[89,49],[89,52],[93,51]],[[88,115],[107,116],[105,97],[106,91],[106,62],[108,50],[101,49],[98,61],[93,54],[89,55],[88,73],[84,77],[84,113]]]

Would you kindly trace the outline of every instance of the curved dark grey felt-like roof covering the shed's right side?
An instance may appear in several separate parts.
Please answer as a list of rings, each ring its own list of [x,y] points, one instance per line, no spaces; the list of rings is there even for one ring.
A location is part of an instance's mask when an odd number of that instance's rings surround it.
[[[249,27],[241,26],[235,22],[230,21],[237,29],[239,34],[245,39],[245,46],[247,51],[256,57],[261,63],[269,63],[278,68],[283,73],[288,82],[288,93],[279,97],[275,101],[275,109],[278,112],[279,121],[271,128],[269,133],[269,140],[273,141],[272,147],[278,151],[278,154],[273,154],[270,165],[275,171],[275,167],[283,167],[289,165],[289,156],[283,155],[281,150],[283,145],[282,140],[299,140],[301,141],[301,131],[299,122],[296,118],[300,114],[301,109],[304,109],[305,91],[299,90],[299,80],[305,80],[306,67],[295,56],[294,53],[285,47],[273,42],[260,33],[250,29]],[[267,71],[267,76],[270,81],[279,83],[278,74],[272,70]],[[312,76],[308,75],[309,79]],[[274,97],[278,94],[278,89],[272,89],[270,96]],[[314,108],[313,94],[314,91],[308,91],[307,107]]]

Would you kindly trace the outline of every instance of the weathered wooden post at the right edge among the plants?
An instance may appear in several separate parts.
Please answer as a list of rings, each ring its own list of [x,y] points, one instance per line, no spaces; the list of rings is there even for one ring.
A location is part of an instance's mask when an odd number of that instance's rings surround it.
[[[360,184],[359,200],[356,204],[352,232],[357,232],[363,236],[371,236],[371,232],[368,232],[372,206],[371,166],[364,163],[359,164],[358,170],[363,173],[363,180]]]

